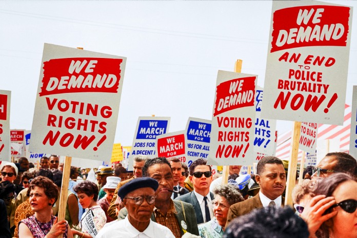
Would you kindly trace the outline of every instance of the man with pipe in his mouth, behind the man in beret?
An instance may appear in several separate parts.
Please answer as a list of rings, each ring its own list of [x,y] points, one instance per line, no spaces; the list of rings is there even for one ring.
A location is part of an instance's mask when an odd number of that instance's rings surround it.
[[[199,235],[192,205],[171,200],[173,174],[166,158],[158,157],[147,160],[143,167],[143,177],[151,177],[158,182],[151,220],[169,228],[176,238],[182,237],[186,232]],[[118,219],[124,219],[127,213],[127,209],[121,209]]]

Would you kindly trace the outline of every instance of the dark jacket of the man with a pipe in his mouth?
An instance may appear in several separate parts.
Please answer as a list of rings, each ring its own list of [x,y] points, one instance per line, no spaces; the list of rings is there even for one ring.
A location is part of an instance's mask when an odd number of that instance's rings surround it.
[[[197,228],[196,215],[192,205],[181,201],[175,201],[175,200],[172,200],[172,202],[177,212],[175,214],[175,217],[177,219],[178,225],[180,225],[181,234],[183,235],[187,231],[194,235],[200,235],[199,228]],[[128,215],[127,209],[125,207],[122,208],[118,214],[118,220],[125,219],[127,215]],[[154,213],[151,214],[151,220],[156,222]],[[186,229],[182,227],[183,224],[182,221],[185,222],[187,226]]]

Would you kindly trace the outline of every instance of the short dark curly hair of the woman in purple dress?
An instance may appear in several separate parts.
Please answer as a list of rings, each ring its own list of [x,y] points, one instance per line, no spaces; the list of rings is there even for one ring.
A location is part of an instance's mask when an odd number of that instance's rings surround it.
[[[43,188],[46,196],[49,199],[54,199],[54,203],[56,203],[58,199],[58,195],[60,195],[60,192],[58,191],[57,185],[55,185],[52,180],[50,180],[48,177],[44,176],[37,176],[33,178],[31,181],[29,188],[27,190],[27,196],[30,196],[31,190],[34,189],[35,187]],[[52,204],[52,206],[53,206]]]

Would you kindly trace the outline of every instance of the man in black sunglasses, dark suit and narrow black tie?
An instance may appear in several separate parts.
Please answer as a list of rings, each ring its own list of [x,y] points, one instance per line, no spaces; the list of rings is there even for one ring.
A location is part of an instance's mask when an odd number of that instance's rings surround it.
[[[196,213],[197,224],[209,222],[213,217],[212,201],[213,193],[209,191],[212,183],[212,169],[207,165],[207,160],[199,158],[190,166],[191,183],[193,191],[177,197],[175,200],[181,200],[192,204]]]

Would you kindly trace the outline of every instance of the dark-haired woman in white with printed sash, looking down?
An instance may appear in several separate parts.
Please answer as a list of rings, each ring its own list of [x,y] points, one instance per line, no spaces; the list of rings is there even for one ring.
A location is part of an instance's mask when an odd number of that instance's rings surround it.
[[[99,230],[107,222],[107,217],[101,206],[97,205],[98,187],[90,181],[83,181],[73,188],[77,193],[80,204],[86,209],[80,221],[80,228],[82,231],[72,229],[74,235],[81,238],[95,237]],[[93,226],[94,225],[94,226]]]

